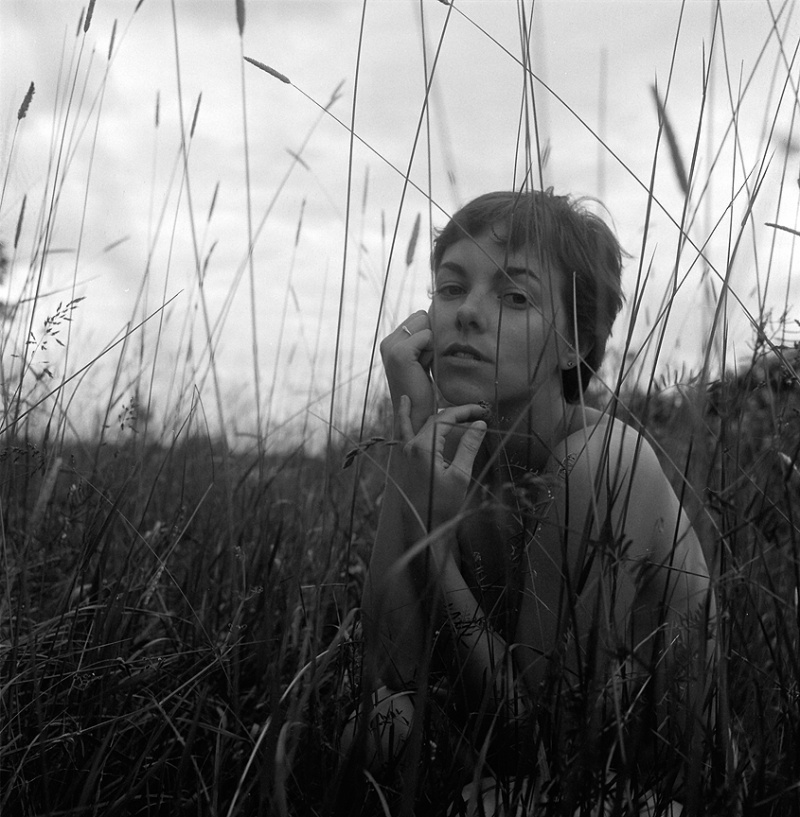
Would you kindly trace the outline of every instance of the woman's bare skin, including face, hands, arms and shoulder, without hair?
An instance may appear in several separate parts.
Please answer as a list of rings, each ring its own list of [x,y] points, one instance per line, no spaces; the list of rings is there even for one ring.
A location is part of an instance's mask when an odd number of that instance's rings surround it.
[[[413,721],[403,691],[426,665],[432,625],[460,635],[453,681],[471,711],[513,718],[536,701],[567,623],[576,634],[562,653],[570,681],[581,677],[602,610],[608,672],[624,664],[644,683],[653,656],[669,668],[673,647],[691,640],[688,618],[713,617],[702,549],[652,448],[623,423],[563,400],[561,370],[579,349],[561,274],[531,247],[508,253],[495,232],[465,238],[435,270],[430,309],[381,345],[401,445],[362,603],[383,716],[371,722],[376,755],[382,741],[388,750],[375,723],[395,712]],[[531,473],[538,483],[526,511],[510,486]],[[599,548],[590,558],[587,539],[603,538],[603,522],[606,545],[590,546]],[[509,622],[512,576],[521,602]]]

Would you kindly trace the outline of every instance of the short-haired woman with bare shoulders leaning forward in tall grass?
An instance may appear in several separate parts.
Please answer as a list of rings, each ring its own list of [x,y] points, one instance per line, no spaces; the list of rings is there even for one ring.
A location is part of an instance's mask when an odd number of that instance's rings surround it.
[[[637,781],[671,771],[661,747],[701,721],[702,549],[651,446],[583,400],[621,256],[568,197],[481,196],[435,240],[429,310],[381,345],[397,445],[363,596],[374,692],[352,730],[373,769],[402,763],[444,674],[464,796],[487,814],[533,813],[553,773],[551,802],[579,806],[599,764],[636,813],[656,797]]]

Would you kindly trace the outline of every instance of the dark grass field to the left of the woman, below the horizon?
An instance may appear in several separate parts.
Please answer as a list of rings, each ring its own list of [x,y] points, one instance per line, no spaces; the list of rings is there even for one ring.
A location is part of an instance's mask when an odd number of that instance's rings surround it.
[[[266,813],[300,769],[324,799],[341,655],[320,653],[375,514],[362,478],[351,524],[355,470],[324,470],[224,472],[198,440],[3,449],[3,814]]]

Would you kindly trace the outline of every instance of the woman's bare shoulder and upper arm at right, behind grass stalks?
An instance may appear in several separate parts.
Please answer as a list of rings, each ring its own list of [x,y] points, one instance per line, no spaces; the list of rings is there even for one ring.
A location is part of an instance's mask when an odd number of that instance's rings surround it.
[[[555,668],[615,717],[621,735],[639,733],[645,702],[663,727],[666,705],[681,698],[678,676],[692,670],[688,656],[701,684],[714,652],[702,548],[651,446],[622,423],[572,435],[552,470],[564,478],[526,552],[517,664],[531,691]],[[655,742],[667,742],[662,732]]]

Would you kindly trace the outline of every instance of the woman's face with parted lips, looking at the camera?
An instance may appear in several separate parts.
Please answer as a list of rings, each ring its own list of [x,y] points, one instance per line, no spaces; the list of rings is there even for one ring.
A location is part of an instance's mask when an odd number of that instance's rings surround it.
[[[430,308],[433,373],[451,404],[486,401],[517,416],[561,397],[571,348],[561,273],[535,248],[509,253],[489,232],[447,248]]]

